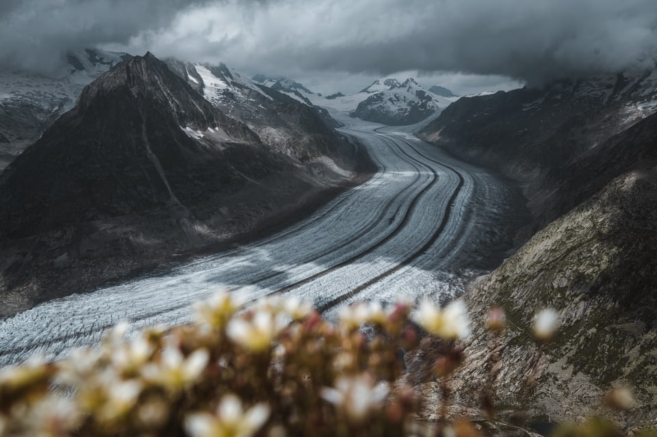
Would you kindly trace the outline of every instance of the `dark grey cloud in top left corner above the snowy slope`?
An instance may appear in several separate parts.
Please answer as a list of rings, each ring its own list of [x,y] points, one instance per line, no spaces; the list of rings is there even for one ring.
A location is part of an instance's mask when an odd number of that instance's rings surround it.
[[[0,66],[52,70],[69,49],[127,43],[207,1],[2,0]]]

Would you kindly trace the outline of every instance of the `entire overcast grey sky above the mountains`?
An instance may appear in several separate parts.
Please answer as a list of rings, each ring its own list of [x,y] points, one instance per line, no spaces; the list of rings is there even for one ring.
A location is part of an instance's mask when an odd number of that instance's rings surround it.
[[[0,0],[0,41],[5,68],[100,46],[324,93],[414,75],[465,94],[653,68],[657,0]]]

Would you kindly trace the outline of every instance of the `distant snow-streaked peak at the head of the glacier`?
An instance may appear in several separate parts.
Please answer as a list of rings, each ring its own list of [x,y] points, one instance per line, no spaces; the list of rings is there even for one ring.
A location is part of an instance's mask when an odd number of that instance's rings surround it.
[[[415,124],[452,103],[446,97],[425,90],[415,79],[403,83],[396,79],[375,81],[362,92],[373,94],[359,103],[352,115],[394,126]]]

